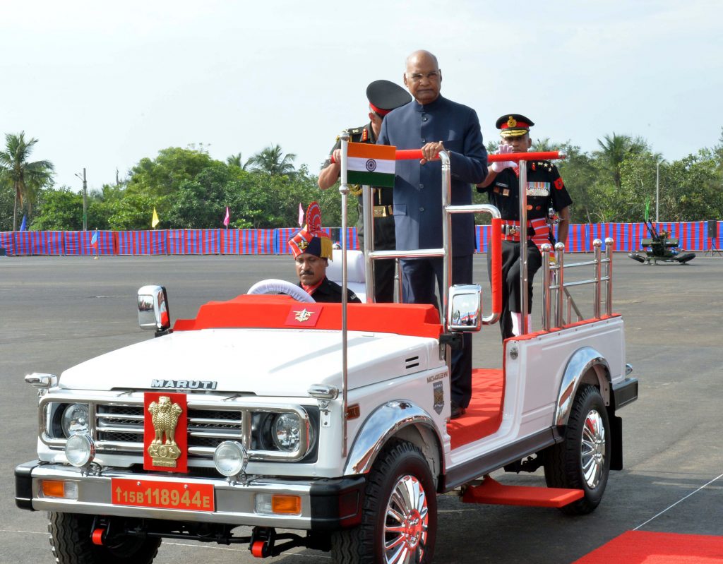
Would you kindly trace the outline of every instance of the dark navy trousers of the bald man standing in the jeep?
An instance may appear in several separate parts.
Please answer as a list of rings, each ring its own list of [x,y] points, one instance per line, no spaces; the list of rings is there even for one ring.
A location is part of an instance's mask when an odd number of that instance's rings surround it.
[[[401,260],[402,294],[406,304],[432,304],[437,309],[435,282],[442,296],[443,266],[441,258]],[[452,257],[451,284],[472,283],[472,255]],[[462,334],[462,347],[452,351],[450,379],[452,401],[461,407],[469,406],[472,396],[472,336]]]

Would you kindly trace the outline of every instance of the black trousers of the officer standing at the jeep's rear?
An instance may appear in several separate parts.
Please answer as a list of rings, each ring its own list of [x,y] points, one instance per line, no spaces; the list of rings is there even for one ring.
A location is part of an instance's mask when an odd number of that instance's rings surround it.
[[[492,253],[487,253],[487,272],[492,279],[490,262]],[[527,296],[528,313],[532,309],[532,282],[534,275],[542,266],[542,255],[531,241],[527,242]],[[520,294],[520,243],[517,241],[502,241],[502,316],[500,317],[500,332],[502,340],[513,336],[511,312],[519,313],[522,309]]]

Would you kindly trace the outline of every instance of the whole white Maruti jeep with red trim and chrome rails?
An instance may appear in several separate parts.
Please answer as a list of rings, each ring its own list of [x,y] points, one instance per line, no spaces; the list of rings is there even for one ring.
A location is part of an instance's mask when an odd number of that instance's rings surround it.
[[[247,294],[172,328],[165,289],[145,286],[140,324],[157,338],[59,378],[26,377],[40,396],[38,459],[17,466],[16,503],[49,512],[63,564],[150,563],[163,538],[244,542],[258,557],[304,546],[335,562],[429,563],[436,495],[453,490],[469,503],[588,513],[622,468],[617,410],[637,398],[610,291],[600,308],[611,248],[603,258],[596,242],[594,316],[570,323],[558,247],[558,264],[545,265],[545,329],[505,341],[502,369],[476,369],[466,416],[451,422],[450,347],[496,319],[482,317],[479,286],[449,286],[441,319],[431,305]],[[369,265],[414,255],[367,250]],[[488,477],[540,466],[549,488]],[[235,536],[241,525],[252,534]]]

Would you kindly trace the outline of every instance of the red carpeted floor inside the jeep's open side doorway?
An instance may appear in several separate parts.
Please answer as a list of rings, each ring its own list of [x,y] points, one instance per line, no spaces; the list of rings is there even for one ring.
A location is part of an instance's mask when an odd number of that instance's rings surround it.
[[[447,432],[452,448],[472,443],[492,435],[502,423],[502,400],[505,377],[502,369],[475,368],[472,370],[472,399],[466,414],[450,421]]]

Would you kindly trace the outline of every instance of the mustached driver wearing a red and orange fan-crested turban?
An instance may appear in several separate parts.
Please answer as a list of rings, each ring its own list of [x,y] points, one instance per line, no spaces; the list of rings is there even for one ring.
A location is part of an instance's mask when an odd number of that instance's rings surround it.
[[[294,255],[299,286],[320,303],[341,303],[341,286],[326,277],[332,257],[331,238],[321,228],[321,210],[317,202],[307,209],[307,224],[288,242]],[[347,289],[346,301],[361,304],[353,291]]]

